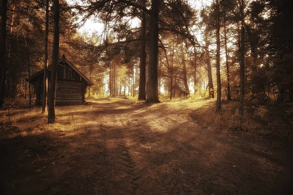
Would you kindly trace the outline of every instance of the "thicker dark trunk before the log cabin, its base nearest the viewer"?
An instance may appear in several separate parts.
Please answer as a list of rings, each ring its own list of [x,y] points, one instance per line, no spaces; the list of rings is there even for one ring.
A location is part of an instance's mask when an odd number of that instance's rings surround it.
[[[52,124],[56,122],[55,98],[56,98],[58,59],[59,59],[59,0],[54,0],[54,40],[53,40],[52,68],[51,68],[50,93],[49,93],[49,105],[48,105],[48,123],[52,123]]]

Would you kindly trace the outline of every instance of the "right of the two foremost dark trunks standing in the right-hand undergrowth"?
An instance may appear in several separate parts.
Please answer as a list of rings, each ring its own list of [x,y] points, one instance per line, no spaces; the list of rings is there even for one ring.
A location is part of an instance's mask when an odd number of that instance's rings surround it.
[[[241,0],[241,42],[240,42],[240,114],[243,115],[244,99],[244,2]]]

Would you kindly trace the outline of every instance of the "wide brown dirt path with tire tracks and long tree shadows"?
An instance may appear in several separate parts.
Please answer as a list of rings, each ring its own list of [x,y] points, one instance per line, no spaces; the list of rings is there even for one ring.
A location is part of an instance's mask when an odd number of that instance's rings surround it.
[[[11,192],[37,185],[40,194],[286,194],[290,170],[275,148],[198,125],[191,112],[170,103],[91,102],[72,114],[78,128],[47,135],[54,166],[43,168],[42,180],[33,173]]]

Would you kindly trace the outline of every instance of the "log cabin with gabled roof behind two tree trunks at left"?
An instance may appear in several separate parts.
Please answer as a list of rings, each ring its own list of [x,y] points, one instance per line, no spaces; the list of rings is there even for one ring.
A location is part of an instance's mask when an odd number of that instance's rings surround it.
[[[48,66],[48,93],[50,89],[51,67]],[[42,105],[43,99],[43,76],[44,71],[41,70],[31,76],[30,83],[34,85],[36,94],[36,106]],[[56,83],[56,105],[72,105],[84,104],[84,96],[86,87],[93,83],[86,78],[76,67],[70,63],[63,55],[58,60],[57,83]],[[49,97],[49,96],[48,96]]]

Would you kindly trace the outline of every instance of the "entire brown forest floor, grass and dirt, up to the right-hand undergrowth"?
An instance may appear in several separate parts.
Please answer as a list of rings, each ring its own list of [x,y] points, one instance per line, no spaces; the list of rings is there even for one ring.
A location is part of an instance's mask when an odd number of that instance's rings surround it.
[[[0,194],[291,194],[292,146],[245,136],[192,113],[210,101],[89,100],[10,112],[25,136],[0,141]],[[0,111],[0,119],[7,117]]]

